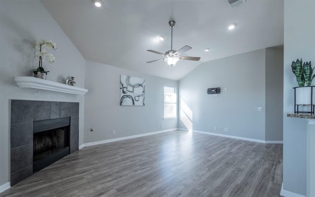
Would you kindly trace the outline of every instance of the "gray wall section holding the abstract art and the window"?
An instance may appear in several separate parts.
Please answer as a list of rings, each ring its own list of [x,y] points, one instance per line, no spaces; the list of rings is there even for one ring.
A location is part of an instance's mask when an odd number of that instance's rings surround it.
[[[145,106],[120,106],[121,74],[146,80]],[[163,120],[165,85],[178,87],[178,81],[86,61],[84,142],[177,128],[177,119]]]

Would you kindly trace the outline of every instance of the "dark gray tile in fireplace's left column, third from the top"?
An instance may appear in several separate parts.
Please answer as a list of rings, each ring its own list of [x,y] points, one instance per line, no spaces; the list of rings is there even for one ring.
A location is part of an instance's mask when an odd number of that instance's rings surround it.
[[[33,143],[11,149],[11,174],[33,164]]]

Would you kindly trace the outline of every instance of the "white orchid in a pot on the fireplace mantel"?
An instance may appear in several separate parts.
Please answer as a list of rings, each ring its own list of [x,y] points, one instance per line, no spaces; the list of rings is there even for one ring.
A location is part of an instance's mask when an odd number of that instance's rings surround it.
[[[38,72],[44,72],[47,74],[47,70],[44,70],[42,66],[42,62],[45,60],[45,58],[48,60],[49,63],[53,63],[55,61],[55,57],[53,54],[48,53],[46,49],[56,49],[56,43],[53,41],[47,41],[47,40],[40,40],[36,46],[35,46],[35,58],[39,60],[38,68],[33,69],[33,73],[37,74]]]

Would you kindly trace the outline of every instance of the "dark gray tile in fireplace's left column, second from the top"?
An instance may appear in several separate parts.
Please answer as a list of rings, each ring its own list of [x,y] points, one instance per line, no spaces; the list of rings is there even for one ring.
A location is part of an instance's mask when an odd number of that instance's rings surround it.
[[[33,122],[11,125],[11,149],[33,143]]]

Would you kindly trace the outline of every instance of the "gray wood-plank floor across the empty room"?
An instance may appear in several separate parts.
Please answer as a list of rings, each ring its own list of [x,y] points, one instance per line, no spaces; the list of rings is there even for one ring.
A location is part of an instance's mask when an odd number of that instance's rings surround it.
[[[280,197],[283,145],[170,131],[85,147],[0,197]]]

